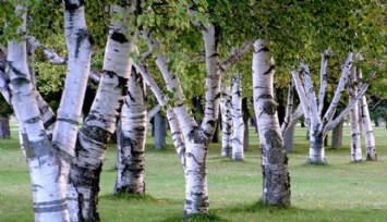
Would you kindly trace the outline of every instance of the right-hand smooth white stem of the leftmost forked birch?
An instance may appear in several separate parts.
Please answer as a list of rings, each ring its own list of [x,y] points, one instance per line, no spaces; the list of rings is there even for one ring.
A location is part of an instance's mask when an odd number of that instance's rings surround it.
[[[64,183],[68,181],[71,159],[75,156],[77,126],[81,121],[90,66],[92,37],[86,27],[84,11],[82,1],[64,1],[64,34],[69,65],[52,132],[52,143],[62,161]]]

